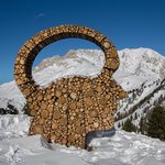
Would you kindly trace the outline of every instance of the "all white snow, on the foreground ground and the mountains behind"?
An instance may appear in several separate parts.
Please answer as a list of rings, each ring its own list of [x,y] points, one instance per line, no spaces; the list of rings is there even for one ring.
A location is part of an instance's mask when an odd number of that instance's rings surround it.
[[[145,86],[130,103],[129,99],[120,101],[118,111],[123,112],[161,85],[161,79],[165,78],[165,57],[148,48],[125,48],[119,51],[119,57],[121,65],[113,75],[114,79],[127,91],[141,89],[142,84]],[[33,69],[33,77],[43,87],[68,75],[95,77],[103,63],[101,51],[70,51],[63,58],[54,56],[44,59]],[[158,85],[154,84],[155,80],[158,80]],[[163,89],[150,99],[151,106],[160,96],[165,96]],[[132,92],[129,97],[132,97]],[[41,135],[28,136],[31,118],[21,113],[25,99],[14,81],[0,86],[0,108],[7,108],[8,103],[20,110],[20,114],[0,116],[0,165],[165,165],[164,142],[121,130],[112,138],[92,140],[91,152],[48,144]],[[143,108],[147,103],[142,106],[135,111],[138,116],[143,116]],[[133,122],[139,124],[138,121],[140,118]]]

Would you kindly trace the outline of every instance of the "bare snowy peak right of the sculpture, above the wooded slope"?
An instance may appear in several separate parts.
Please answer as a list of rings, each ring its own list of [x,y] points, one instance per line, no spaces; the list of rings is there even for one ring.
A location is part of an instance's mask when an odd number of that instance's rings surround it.
[[[114,78],[124,89],[139,88],[143,82],[165,78],[165,57],[150,48],[119,51],[121,65]]]

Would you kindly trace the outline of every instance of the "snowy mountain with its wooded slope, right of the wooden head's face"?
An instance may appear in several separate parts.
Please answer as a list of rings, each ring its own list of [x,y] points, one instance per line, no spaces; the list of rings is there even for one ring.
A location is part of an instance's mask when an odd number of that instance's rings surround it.
[[[165,57],[148,48],[127,48],[119,54],[124,63],[121,63],[116,78],[118,81],[121,78],[119,82],[129,97],[119,103],[116,127],[121,128],[129,118],[142,132],[141,127],[147,122],[153,108],[165,105]],[[122,77],[121,70],[129,76]]]

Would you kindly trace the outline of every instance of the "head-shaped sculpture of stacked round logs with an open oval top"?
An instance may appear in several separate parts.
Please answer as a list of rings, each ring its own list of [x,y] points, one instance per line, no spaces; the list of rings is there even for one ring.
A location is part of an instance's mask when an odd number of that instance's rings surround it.
[[[96,43],[106,63],[96,78],[67,77],[41,88],[32,78],[32,64],[42,48],[62,38],[79,37]],[[117,100],[125,92],[111,79],[119,67],[117,50],[101,33],[86,26],[61,25],[44,30],[25,42],[14,65],[15,81],[33,116],[30,134],[42,134],[48,142],[85,147],[90,131],[113,128]]]

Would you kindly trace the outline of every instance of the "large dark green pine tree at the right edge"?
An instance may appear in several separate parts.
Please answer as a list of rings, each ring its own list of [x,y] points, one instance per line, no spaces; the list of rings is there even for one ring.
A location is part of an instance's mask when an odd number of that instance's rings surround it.
[[[165,141],[165,109],[155,107],[147,123],[147,135]]]

